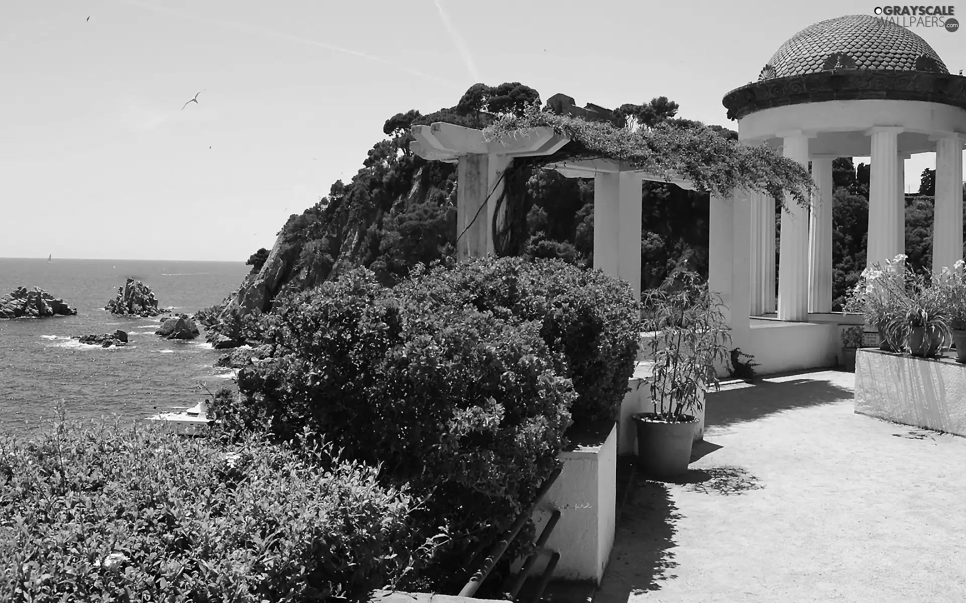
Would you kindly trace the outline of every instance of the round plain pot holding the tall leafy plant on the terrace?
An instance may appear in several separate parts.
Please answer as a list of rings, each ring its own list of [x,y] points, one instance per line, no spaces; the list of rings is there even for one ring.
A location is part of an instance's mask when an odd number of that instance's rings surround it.
[[[638,426],[638,468],[657,478],[670,478],[688,470],[697,419],[668,423],[654,413],[632,415]]]

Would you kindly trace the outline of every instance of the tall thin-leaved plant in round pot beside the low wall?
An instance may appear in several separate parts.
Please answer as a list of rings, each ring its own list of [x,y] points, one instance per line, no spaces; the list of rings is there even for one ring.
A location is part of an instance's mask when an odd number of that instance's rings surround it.
[[[721,297],[695,272],[681,271],[661,288],[641,294],[643,329],[654,362],[650,396],[654,412],[634,415],[639,468],[650,475],[684,473],[691,461],[696,412],[702,396],[718,389],[731,338]]]

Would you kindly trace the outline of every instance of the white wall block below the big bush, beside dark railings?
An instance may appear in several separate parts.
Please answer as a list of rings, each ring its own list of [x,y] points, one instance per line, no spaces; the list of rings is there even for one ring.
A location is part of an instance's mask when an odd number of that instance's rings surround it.
[[[592,580],[600,584],[611,557],[616,525],[617,428],[600,446],[561,452],[563,471],[540,507],[533,512],[537,534],[543,532],[554,509],[560,519],[547,548],[560,553],[554,579]],[[530,575],[539,575],[550,555],[541,555]],[[512,566],[520,569],[524,560]]]

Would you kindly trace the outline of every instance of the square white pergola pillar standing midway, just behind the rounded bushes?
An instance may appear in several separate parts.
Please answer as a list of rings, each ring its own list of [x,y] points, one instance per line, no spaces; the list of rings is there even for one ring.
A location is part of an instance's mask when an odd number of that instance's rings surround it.
[[[634,172],[594,176],[594,268],[624,279],[640,299],[640,200]]]

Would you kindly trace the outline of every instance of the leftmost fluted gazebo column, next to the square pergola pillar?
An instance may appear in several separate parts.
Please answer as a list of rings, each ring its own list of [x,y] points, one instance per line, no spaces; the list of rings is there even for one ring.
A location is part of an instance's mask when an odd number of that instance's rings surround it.
[[[749,193],[751,214],[751,313],[775,313],[775,198]]]

